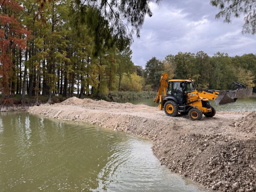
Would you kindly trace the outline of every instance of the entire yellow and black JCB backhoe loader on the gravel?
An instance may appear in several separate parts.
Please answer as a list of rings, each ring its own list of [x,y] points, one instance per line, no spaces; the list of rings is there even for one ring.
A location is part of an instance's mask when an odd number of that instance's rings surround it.
[[[178,113],[188,114],[191,120],[200,120],[203,115],[213,117],[216,110],[210,105],[209,100],[223,105],[235,102],[237,98],[252,95],[252,89],[238,82],[233,82],[228,91],[218,91],[199,89],[190,78],[169,81],[167,79],[168,75],[162,73],[154,102],[159,104],[160,110],[164,109],[166,115],[173,117]]]

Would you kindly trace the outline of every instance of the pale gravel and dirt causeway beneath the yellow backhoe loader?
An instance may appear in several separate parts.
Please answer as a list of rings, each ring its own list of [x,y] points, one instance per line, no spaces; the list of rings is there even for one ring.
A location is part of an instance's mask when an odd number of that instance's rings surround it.
[[[156,107],[75,97],[29,111],[151,139],[161,164],[205,187],[256,190],[255,112],[217,112],[213,118],[191,121],[187,116],[168,117]]]

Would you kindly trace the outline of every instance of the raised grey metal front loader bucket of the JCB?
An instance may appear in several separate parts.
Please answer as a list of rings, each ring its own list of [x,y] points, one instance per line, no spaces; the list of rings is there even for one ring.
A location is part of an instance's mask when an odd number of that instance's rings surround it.
[[[231,90],[230,90],[231,88]],[[223,105],[236,102],[238,98],[251,97],[252,89],[246,88],[245,85],[233,82],[228,91],[220,91],[218,97],[215,99],[217,105]]]

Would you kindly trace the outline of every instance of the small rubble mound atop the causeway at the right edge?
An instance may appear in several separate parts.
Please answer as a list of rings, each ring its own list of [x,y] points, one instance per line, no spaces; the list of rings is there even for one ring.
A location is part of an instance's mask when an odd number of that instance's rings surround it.
[[[256,134],[256,111],[233,122],[239,131]]]

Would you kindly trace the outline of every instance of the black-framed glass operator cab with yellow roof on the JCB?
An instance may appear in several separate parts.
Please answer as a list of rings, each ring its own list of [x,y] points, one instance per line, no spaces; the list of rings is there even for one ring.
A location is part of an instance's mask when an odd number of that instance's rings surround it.
[[[193,80],[169,80],[167,97],[171,96],[176,98],[179,104],[187,103],[187,94],[195,91],[193,82]]]

